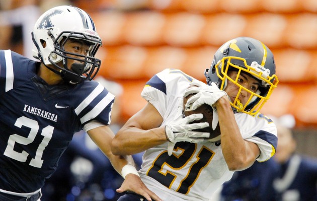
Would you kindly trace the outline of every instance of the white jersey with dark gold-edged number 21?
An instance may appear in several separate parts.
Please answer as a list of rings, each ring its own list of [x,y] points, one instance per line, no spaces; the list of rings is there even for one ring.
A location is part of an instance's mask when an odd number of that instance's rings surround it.
[[[193,81],[197,80],[180,70],[166,69],[146,83],[141,96],[160,112],[164,118],[162,126],[174,119],[177,109],[182,107],[184,91]],[[262,114],[234,115],[242,137],[259,146],[261,153],[257,160],[271,158],[277,146],[275,124]],[[213,192],[232,177],[220,143],[179,142],[171,156],[167,145],[146,150],[139,171],[145,185],[163,200],[209,200]]]

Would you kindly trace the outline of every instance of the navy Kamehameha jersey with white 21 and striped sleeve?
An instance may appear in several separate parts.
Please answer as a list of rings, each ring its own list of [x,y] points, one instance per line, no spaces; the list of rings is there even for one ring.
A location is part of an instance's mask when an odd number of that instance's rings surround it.
[[[101,84],[47,85],[38,62],[0,50],[0,188],[33,192],[56,169],[73,133],[111,121],[114,96]]]

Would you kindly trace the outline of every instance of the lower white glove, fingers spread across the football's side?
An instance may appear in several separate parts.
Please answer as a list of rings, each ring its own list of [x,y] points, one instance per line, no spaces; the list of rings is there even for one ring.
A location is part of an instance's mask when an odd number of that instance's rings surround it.
[[[193,131],[194,129],[201,129],[209,126],[208,122],[190,123],[195,120],[203,118],[203,114],[192,114],[183,118],[182,107],[178,107],[176,118],[167,123],[165,126],[165,133],[168,139],[168,154],[172,155],[174,146],[177,142],[199,143],[210,136],[209,132]]]

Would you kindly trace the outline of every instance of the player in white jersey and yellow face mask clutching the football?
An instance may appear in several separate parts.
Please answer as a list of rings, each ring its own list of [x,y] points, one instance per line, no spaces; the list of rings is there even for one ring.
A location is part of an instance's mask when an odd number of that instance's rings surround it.
[[[207,84],[176,69],[154,75],[141,93],[148,103],[112,141],[115,155],[145,151],[140,177],[163,200],[209,200],[233,171],[244,170],[255,160],[264,162],[275,153],[276,126],[259,113],[278,83],[271,50],[253,38],[232,39],[216,51],[205,76]],[[183,97],[188,94],[195,95],[186,109],[212,106],[212,125],[191,123],[201,114],[184,117]],[[209,133],[196,130],[215,128],[217,123],[220,141],[204,140]],[[140,197],[127,192],[118,200]]]

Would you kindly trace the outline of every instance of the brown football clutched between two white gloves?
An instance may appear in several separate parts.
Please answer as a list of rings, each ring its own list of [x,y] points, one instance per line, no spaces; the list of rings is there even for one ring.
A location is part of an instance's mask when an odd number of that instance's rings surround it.
[[[195,110],[192,111],[185,111],[185,105],[187,103],[187,100],[192,97],[195,94],[189,94],[188,96],[184,97],[183,99],[183,112],[185,116],[191,115],[191,114],[198,114],[201,113],[204,115],[204,117],[200,120],[192,121],[191,123],[199,123],[199,122],[208,122],[209,127],[197,129],[197,131],[201,132],[209,132],[210,136],[209,138],[205,138],[206,140],[210,142],[220,142],[220,126],[219,123],[216,126],[215,130],[212,130],[211,124],[212,124],[212,117],[213,117],[213,109],[210,105],[203,104],[200,107],[198,107]]]

